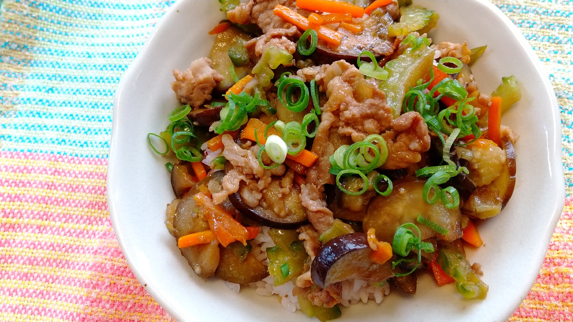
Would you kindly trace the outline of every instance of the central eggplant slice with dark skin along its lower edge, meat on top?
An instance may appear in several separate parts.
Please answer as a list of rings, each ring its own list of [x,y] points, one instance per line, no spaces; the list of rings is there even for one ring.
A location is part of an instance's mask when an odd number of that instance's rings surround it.
[[[281,189],[280,179],[273,178],[270,186],[262,191],[262,199],[258,206],[249,206],[241,195],[246,188],[241,183],[239,190],[229,195],[229,200],[241,214],[264,226],[278,229],[297,229],[308,223],[307,213],[300,203],[300,186],[293,182],[288,195],[279,198],[278,191]]]

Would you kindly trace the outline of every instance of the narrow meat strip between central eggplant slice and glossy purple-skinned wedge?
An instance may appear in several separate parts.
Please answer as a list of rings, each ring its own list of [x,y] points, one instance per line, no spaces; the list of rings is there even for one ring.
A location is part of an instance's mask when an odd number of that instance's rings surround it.
[[[327,208],[323,194],[314,184],[301,184],[300,202],[307,209],[308,221],[322,234],[334,222],[332,211]]]

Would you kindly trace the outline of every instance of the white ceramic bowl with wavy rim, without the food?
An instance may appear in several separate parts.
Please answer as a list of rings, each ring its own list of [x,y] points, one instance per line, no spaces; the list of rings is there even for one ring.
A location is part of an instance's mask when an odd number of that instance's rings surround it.
[[[472,70],[480,89],[492,92],[502,76],[514,74],[523,98],[503,116],[521,138],[517,184],[502,213],[480,227],[484,246],[468,250],[482,265],[489,285],[485,300],[464,300],[453,284],[438,288],[420,274],[418,292],[391,292],[381,304],[344,308],[337,321],[505,321],[527,295],[539,273],[563,208],[559,109],[539,59],[519,30],[486,0],[418,0],[441,18],[434,42],[488,45]],[[222,19],[215,0],[182,0],[164,16],[121,79],[113,104],[108,168],[108,202],[121,249],[138,280],[167,312],[184,321],[308,321],[285,311],[276,296],[252,289],[230,292],[222,280],[203,280],[190,269],[163,225],[174,195],[164,158],[147,145],[148,132],[168,124],[180,103],[171,91],[171,70],[209,56],[207,32]]]

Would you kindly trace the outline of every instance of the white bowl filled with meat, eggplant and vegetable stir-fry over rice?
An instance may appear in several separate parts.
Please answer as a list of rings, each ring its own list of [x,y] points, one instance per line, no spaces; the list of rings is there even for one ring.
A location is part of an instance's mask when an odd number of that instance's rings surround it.
[[[502,16],[178,3],[114,104],[108,199],[136,276],[180,321],[507,318],[563,176],[555,96]]]

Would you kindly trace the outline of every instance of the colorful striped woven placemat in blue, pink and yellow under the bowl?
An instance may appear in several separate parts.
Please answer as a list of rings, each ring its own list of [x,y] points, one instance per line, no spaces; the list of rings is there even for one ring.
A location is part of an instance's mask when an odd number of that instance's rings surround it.
[[[173,320],[129,269],[105,200],[113,93],[172,3],[2,3],[0,321]],[[567,183],[543,268],[510,321],[571,321],[573,2],[493,3],[550,74],[562,113]]]

